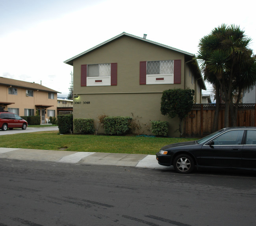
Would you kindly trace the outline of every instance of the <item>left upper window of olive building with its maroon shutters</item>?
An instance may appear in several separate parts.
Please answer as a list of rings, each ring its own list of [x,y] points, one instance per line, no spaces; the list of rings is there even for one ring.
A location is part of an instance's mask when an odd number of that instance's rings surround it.
[[[116,86],[117,63],[81,65],[81,86]]]

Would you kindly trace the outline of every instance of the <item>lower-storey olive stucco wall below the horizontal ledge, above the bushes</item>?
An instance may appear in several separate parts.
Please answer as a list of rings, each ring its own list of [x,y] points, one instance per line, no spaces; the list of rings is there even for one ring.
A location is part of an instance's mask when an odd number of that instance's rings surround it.
[[[168,118],[161,114],[162,94],[87,94],[76,98],[73,105],[74,118],[95,119],[95,126],[98,116],[130,116],[136,119],[141,125],[140,134],[152,134],[150,121],[160,120],[169,122],[169,132],[172,136],[179,136],[176,131],[179,126],[178,118]],[[103,133],[100,129],[98,132]]]

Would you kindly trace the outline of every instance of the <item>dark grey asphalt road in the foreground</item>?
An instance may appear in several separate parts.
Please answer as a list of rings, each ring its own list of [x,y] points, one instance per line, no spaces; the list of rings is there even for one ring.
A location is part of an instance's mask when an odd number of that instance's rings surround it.
[[[256,174],[0,159],[0,226],[252,226]]]

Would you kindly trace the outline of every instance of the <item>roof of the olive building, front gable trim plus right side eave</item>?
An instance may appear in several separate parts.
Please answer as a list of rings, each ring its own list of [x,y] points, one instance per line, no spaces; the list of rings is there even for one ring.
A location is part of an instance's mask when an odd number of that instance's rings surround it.
[[[78,55],[76,55],[76,56],[74,56],[74,57],[64,61],[64,63],[73,66],[73,61],[76,60],[77,58],[85,55],[86,53],[89,53],[90,51],[95,50],[96,48],[99,48],[100,46],[103,46],[103,45],[105,45],[105,44],[107,44],[109,42],[112,42],[113,40],[116,40],[116,39],[118,39],[118,38],[120,38],[122,36],[132,37],[132,38],[135,38],[135,39],[138,39],[138,40],[142,40],[144,42],[149,42],[151,44],[155,44],[155,45],[161,46],[163,48],[167,48],[169,50],[174,50],[174,51],[177,51],[179,53],[185,54],[187,56],[187,61],[186,62],[189,63],[191,65],[191,67],[193,68],[195,74],[197,75],[198,80],[200,81],[200,85],[202,86],[202,89],[206,90],[206,85],[204,83],[204,79],[202,77],[202,74],[201,74],[200,68],[198,66],[198,63],[194,59],[195,55],[193,53],[188,53],[186,51],[178,50],[178,49],[173,48],[171,46],[166,46],[166,45],[160,44],[158,42],[154,42],[154,41],[148,40],[148,39],[146,39],[144,37],[141,38],[141,37],[138,37],[138,36],[135,36],[135,35],[131,35],[131,34],[125,33],[125,32],[121,33],[120,35],[117,35],[117,36],[113,37],[112,39],[106,40],[105,42],[102,42],[101,44],[98,44],[97,46],[95,46],[95,47],[93,47],[93,48],[91,48],[89,50],[86,50],[86,51],[84,51],[84,52],[82,52],[82,53],[80,53],[80,54],[78,54]]]

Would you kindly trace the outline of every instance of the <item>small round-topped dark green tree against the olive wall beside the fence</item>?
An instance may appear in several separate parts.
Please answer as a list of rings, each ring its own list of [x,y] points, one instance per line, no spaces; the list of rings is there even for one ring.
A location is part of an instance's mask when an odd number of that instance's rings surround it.
[[[171,118],[174,118],[176,115],[180,118],[180,136],[183,135],[183,120],[193,107],[194,94],[195,91],[191,89],[170,89],[163,91],[161,113]]]

